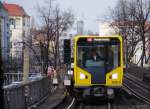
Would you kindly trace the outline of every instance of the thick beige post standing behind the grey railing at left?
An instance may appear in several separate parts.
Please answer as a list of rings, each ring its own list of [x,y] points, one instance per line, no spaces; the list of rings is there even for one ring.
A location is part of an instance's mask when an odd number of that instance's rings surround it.
[[[23,49],[24,62],[23,62],[23,82],[27,83],[29,81],[29,49],[27,46]]]

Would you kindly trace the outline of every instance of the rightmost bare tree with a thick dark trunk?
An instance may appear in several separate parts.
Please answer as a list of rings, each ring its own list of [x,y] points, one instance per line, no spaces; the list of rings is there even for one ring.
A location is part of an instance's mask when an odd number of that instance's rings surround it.
[[[146,22],[150,16],[150,0],[136,0],[136,11],[134,14],[135,19],[138,24],[138,32],[142,41],[142,55],[140,58],[141,66],[143,66],[144,59],[146,61],[146,33],[149,31],[149,28],[145,28]]]

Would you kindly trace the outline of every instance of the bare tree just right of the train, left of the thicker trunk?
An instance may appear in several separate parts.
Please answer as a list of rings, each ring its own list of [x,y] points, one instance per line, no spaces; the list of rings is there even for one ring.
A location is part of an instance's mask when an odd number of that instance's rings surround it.
[[[132,18],[134,10],[129,9],[129,3],[126,0],[119,0],[116,7],[112,10],[111,16],[113,23],[111,26],[115,28],[123,36],[124,41],[124,52],[125,52],[125,63],[130,62],[137,40],[135,37],[135,20]],[[131,44],[134,44],[130,46]]]

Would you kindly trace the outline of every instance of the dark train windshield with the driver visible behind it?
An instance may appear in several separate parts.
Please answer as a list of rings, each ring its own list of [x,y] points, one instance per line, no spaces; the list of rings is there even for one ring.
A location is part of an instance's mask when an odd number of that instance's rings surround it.
[[[77,42],[77,66],[109,72],[120,65],[120,41],[117,38],[81,38]],[[92,72],[92,71],[89,71]]]

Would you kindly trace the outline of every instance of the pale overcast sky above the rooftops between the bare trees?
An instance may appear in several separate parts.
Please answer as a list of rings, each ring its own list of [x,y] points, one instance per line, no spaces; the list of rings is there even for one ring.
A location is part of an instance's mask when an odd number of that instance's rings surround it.
[[[2,0],[16,3],[24,7],[27,14],[36,16],[36,4],[44,4],[45,0]],[[85,29],[98,32],[98,21],[104,20],[109,14],[109,8],[114,7],[117,0],[56,0],[62,9],[71,8],[78,20],[84,21]]]

